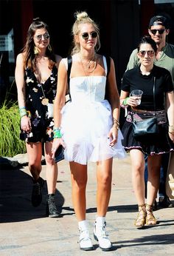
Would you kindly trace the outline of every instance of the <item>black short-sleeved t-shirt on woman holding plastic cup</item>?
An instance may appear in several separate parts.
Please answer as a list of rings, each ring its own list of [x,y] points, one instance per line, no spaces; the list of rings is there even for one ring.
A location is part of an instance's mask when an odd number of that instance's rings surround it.
[[[122,90],[142,90],[142,101],[136,108],[139,110],[154,110],[153,105],[153,84],[156,78],[156,110],[164,110],[164,94],[173,91],[173,82],[170,72],[163,67],[153,66],[150,75],[142,75],[139,67],[127,70],[122,78]]]

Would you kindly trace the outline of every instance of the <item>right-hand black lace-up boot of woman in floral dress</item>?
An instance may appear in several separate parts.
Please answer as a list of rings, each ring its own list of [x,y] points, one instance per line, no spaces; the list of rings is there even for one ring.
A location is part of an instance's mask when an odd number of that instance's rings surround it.
[[[55,194],[49,194],[46,203],[46,215],[51,218],[60,217],[60,212],[55,206]]]

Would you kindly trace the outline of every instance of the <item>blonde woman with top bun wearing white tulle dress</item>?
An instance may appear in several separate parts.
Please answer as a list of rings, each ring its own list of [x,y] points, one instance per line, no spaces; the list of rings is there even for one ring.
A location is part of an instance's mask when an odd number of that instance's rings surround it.
[[[65,104],[67,58],[60,61],[58,92],[54,107],[55,150],[63,145],[65,159],[72,174],[72,200],[80,230],[80,249],[91,250],[93,244],[86,220],[87,163],[97,162],[97,218],[94,238],[102,250],[112,249],[105,230],[105,215],[111,195],[113,158],[125,157],[119,130],[119,94],[116,88],[114,61],[107,78],[105,57],[100,48],[99,28],[86,12],[76,13],[72,27],[74,48],[69,90],[71,101]],[[107,92],[108,100],[105,100]]]

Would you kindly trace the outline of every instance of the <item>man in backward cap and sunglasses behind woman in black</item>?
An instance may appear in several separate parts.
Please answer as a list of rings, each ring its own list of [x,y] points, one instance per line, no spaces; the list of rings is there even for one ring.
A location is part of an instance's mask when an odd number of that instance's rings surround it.
[[[164,67],[170,71],[174,85],[174,45],[167,43],[167,35],[170,33],[170,20],[169,18],[161,15],[153,16],[150,18],[148,33],[150,37],[156,42],[157,53],[154,64],[159,67]],[[128,61],[127,70],[139,66],[139,56],[137,49],[133,50]],[[167,167],[170,154],[162,155],[161,161],[161,178],[159,185],[159,206],[170,206],[170,199],[167,197],[165,189],[165,181],[167,177]],[[147,156],[145,167],[145,181],[147,181]],[[147,189],[147,186],[146,186]],[[156,209],[156,201],[154,201],[154,208]]]

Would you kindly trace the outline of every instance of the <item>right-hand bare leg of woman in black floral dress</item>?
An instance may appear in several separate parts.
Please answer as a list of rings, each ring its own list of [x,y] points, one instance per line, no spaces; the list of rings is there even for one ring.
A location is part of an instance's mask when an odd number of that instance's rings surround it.
[[[48,194],[55,194],[56,183],[58,179],[58,165],[52,159],[52,141],[45,144],[45,159],[46,159],[46,183]]]

